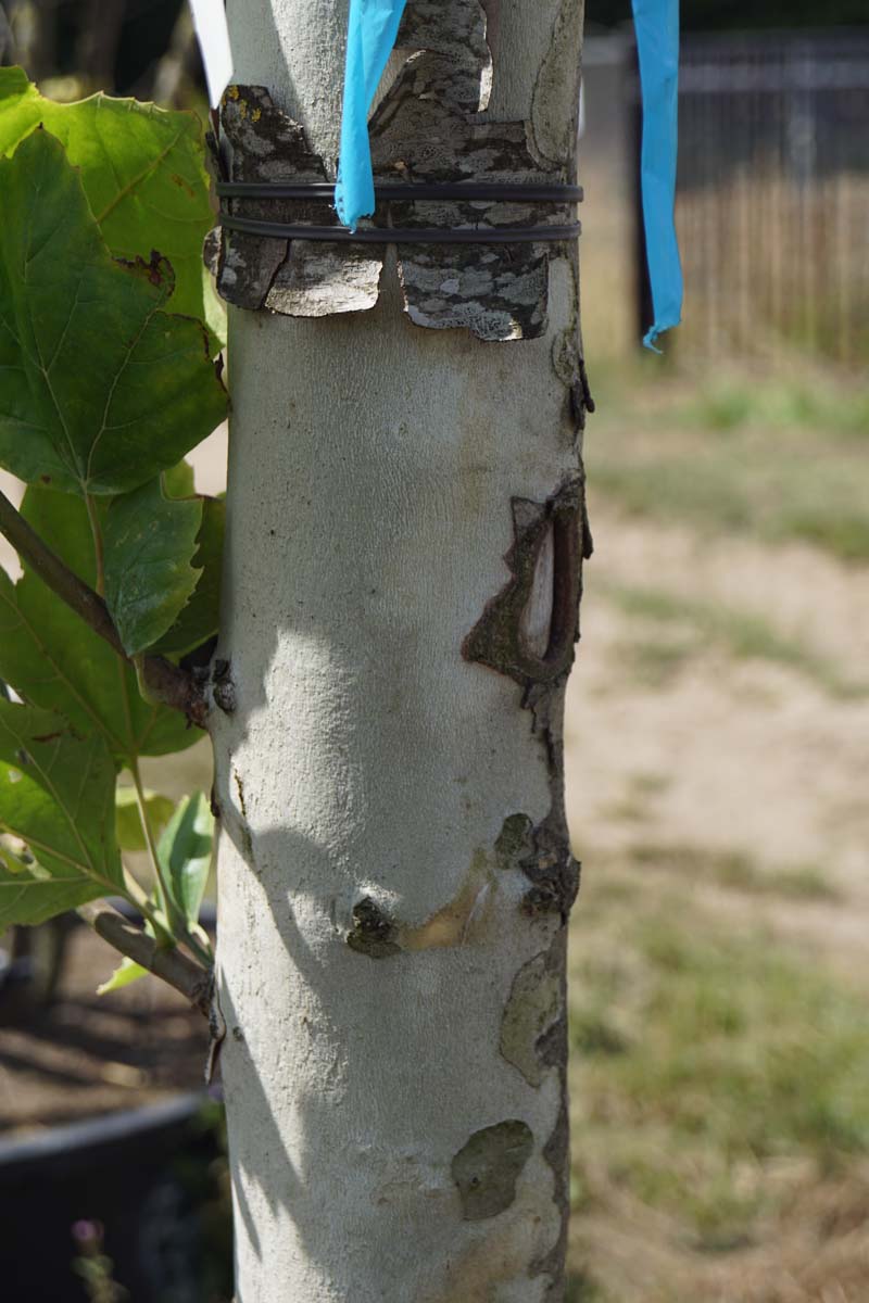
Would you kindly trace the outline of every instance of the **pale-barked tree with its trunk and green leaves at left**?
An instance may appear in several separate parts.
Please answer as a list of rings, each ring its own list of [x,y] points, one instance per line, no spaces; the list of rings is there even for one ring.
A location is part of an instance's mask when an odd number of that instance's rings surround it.
[[[229,18],[224,184],[334,179],[345,8],[258,0]],[[410,0],[371,122],[378,180],[569,184],[581,23],[581,0]],[[214,266],[236,305],[228,534],[203,667],[218,547],[176,464],[219,416],[208,348],[182,382],[160,371],[188,357],[193,330],[168,311],[178,268],[100,227],[99,163],[82,150],[77,179],[78,136],[59,116],[82,107],[34,108],[31,95],[18,83],[7,96],[18,126],[0,164],[18,214],[0,250],[0,362],[18,378],[0,452],[31,482],[23,519],[7,504],[3,529],[26,564],[9,628],[36,628],[53,652],[42,674],[31,644],[4,642],[0,672],[23,698],[0,702],[0,822],[20,839],[5,851],[5,917],[79,906],[225,1031],[240,1300],[558,1299],[577,886],[562,715],[590,549],[575,244],[288,245],[240,227],[328,224],[326,201],[227,197]],[[125,112],[146,134],[164,121]],[[129,163],[128,137],[117,158],[111,141],[108,163]],[[199,193],[189,171],[146,171]],[[397,198],[378,223],[569,225],[568,197],[541,194]],[[59,215],[83,241],[74,257],[55,238]],[[36,248],[46,268],[55,254],[53,301],[48,271],[34,289]],[[85,279],[96,292],[79,293],[81,267],[102,278]],[[192,276],[184,285],[195,297]],[[111,311],[98,321],[94,304]],[[152,357],[137,353],[149,328],[163,341]],[[82,365],[86,348],[99,367]],[[133,426],[141,438],[119,433]],[[53,623],[39,625],[34,590]],[[104,696],[104,668],[73,672],[99,642],[61,654],[61,603],[79,622],[70,646],[102,637],[128,662],[132,717]],[[142,730],[117,736],[119,718],[146,710]],[[201,840],[180,842],[202,803],[158,846],[139,791],[150,898],[121,872],[107,814],[142,731],[181,744],[178,711],[215,745],[214,1001],[195,928]],[[107,891],[139,904],[150,937],[93,903]]]

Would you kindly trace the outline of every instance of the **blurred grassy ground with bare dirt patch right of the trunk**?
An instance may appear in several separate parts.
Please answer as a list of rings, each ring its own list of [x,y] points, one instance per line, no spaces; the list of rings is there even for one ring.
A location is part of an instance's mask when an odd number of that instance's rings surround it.
[[[862,1303],[869,399],[634,379],[586,443],[568,1298]]]

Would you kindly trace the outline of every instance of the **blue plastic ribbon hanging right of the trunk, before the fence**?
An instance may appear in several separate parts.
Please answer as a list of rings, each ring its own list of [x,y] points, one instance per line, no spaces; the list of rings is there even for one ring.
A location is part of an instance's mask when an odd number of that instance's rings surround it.
[[[642,89],[642,222],[654,322],[642,343],[681,321],[681,263],[674,205],[679,146],[679,0],[633,0]],[[655,349],[655,352],[659,352]]]

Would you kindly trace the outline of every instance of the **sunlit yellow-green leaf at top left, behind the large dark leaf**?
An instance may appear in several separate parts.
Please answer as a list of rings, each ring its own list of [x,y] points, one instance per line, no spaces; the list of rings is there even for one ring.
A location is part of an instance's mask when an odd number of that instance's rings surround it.
[[[171,310],[201,318],[223,337],[223,314],[202,266],[214,211],[197,116],[107,95],[56,104],[21,68],[1,68],[0,154],[10,154],[40,122],[81,169],[112,254],[149,259],[159,249],[175,268]]]

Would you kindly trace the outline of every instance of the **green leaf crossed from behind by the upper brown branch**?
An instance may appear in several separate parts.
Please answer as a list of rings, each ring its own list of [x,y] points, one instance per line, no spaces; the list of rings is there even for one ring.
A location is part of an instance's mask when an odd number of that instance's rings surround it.
[[[85,503],[31,487],[21,512],[48,547],[94,586]],[[60,711],[77,732],[102,734],[120,764],[184,751],[201,736],[177,710],[145,701],[133,667],[29,567],[17,584],[0,571],[0,678],[34,705]]]

